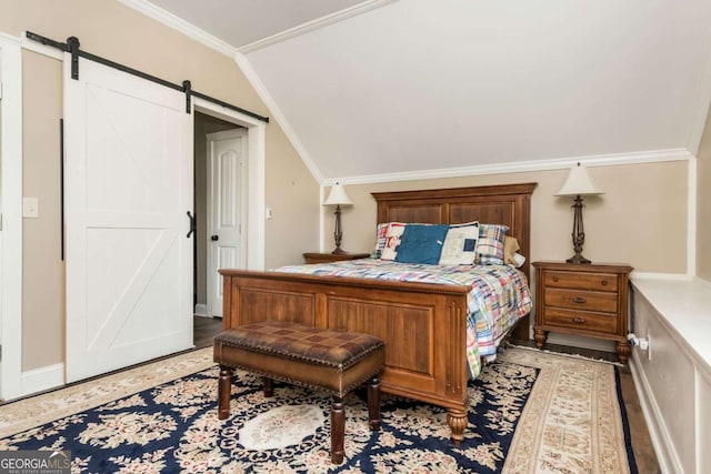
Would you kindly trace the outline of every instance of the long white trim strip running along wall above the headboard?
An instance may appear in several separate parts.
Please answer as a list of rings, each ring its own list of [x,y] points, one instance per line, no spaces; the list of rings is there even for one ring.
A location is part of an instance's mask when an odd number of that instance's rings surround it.
[[[693,155],[687,149],[651,150],[630,153],[594,154],[583,157],[568,157],[561,159],[517,161],[497,164],[481,164],[475,167],[447,168],[440,170],[422,170],[404,173],[383,173],[360,177],[342,177],[326,179],[324,185],[332,185],[336,181],[342,184],[370,184],[395,181],[431,180],[440,178],[477,177],[487,174],[523,173],[532,171],[562,170],[583,163],[588,168],[613,167],[620,164],[643,164],[665,161],[689,161]]]

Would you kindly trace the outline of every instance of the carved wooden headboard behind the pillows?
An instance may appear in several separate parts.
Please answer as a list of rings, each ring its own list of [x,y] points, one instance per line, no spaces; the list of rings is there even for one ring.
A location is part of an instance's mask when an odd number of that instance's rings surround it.
[[[531,194],[538,183],[451,188],[422,191],[374,192],[378,223],[420,222],[459,224],[479,221],[505,224],[518,239],[519,251],[531,262]],[[530,265],[521,270],[530,281]]]

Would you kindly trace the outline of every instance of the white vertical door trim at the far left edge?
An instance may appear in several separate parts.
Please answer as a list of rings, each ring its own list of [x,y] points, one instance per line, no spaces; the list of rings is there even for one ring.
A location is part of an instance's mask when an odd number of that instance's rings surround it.
[[[22,395],[22,51],[0,33],[0,399]]]

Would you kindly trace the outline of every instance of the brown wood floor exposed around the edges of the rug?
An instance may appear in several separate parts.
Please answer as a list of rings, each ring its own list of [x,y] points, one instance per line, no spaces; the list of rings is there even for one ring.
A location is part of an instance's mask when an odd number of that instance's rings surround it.
[[[222,329],[222,320],[218,317],[194,317],[194,344],[196,347],[208,347],[212,345],[212,337]],[[517,343],[533,346],[533,341]],[[547,344],[545,349],[553,352],[574,353],[593,359],[602,359],[607,361],[617,361],[617,353],[590,351],[579,347],[568,347],[564,345]],[[647,422],[640,407],[640,401],[634,387],[634,381],[628,366],[620,369],[620,386],[622,387],[622,399],[627,410],[628,421],[630,423],[630,438],[632,441],[632,451],[634,460],[640,473],[657,474],[661,473],[654,447],[649,436]]]

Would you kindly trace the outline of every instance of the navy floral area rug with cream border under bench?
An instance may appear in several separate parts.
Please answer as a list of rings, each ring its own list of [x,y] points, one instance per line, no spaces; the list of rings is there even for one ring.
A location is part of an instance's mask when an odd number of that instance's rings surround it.
[[[443,409],[383,394],[371,432],[365,395],[352,393],[336,466],[330,396],[276,384],[266,399],[261,380],[238,371],[219,421],[208,349],[0,406],[0,450],[68,450],[72,473],[635,472],[615,374],[508,350],[470,383],[459,447]]]

